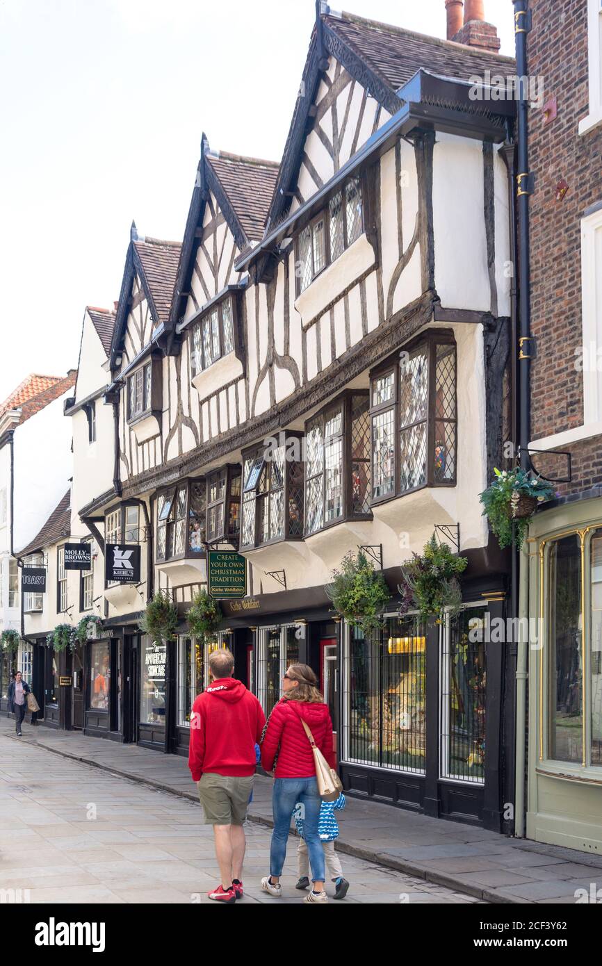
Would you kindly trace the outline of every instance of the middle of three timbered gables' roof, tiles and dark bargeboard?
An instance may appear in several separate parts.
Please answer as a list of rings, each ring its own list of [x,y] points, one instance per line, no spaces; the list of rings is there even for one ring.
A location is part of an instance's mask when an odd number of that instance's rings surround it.
[[[201,138],[201,158],[186,218],[186,230],[180,254],[180,265],[169,317],[175,326],[186,309],[186,293],[199,245],[197,230],[202,229],[205,205],[212,191],[228,228],[241,251],[251,241],[259,241],[264,227],[276,180],[278,164],[259,157],[212,152],[205,134]]]

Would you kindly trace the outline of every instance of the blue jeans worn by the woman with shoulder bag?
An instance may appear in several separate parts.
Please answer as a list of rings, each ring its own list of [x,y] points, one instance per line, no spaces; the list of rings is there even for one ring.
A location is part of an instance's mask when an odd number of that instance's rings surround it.
[[[314,882],[324,882],[324,848],[318,833],[318,820],[322,799],[318,795],[318,782],[310,779],[276,779],[273,782],[272,811],[273,832],[270,849],[270,875],[281,875],[286,859],[286,845],[291,828],[291,818],[298,802],[304,809],[303,838],[307,843],[309,865]]]

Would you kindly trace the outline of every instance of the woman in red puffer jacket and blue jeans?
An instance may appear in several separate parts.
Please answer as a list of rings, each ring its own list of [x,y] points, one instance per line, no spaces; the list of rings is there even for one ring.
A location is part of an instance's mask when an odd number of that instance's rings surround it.
[[[261,880],[270,895],[281,895],[280,875],[286,858],[286,845],[295,806],[303,809],[303,838],[307,843],[313,890],[304,902],[327,902],[324,891],[324,849],[318,833],[320,806],[313,753],[301,719],[314,741],[334,767],[332,722],[328,705],[318,691],[317,678],[307,665],[291,665],[284,675],[284,695],[274,706],[266,725],[261,746],[261,763],[267,772],[275,765],[272,793],[273,832],[270,850],[270,875]]]

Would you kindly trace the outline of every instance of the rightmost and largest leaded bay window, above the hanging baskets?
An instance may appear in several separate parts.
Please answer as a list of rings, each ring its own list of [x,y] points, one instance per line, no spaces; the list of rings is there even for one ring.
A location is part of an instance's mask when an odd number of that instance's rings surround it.
[[[432,332],[371,375],[372,502],[456,481],[456,349]]]

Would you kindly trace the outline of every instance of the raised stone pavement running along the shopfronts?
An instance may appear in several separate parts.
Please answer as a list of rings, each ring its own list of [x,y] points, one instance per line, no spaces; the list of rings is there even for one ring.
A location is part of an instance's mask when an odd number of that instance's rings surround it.
[[[14,735],[12,719],[0,720],[0,734]],[[43,725],[24,725],[23,738],[13,740],[197,801],[186,758],[179,755]],[[257,778],[249,812],[255,823],[272,825],[271,788],[270,779]],[[505,838],[375,802],[348,797],[340,828],[339,852],[488,902],[574,903],[577,889],[602,886],[602,856]]]

